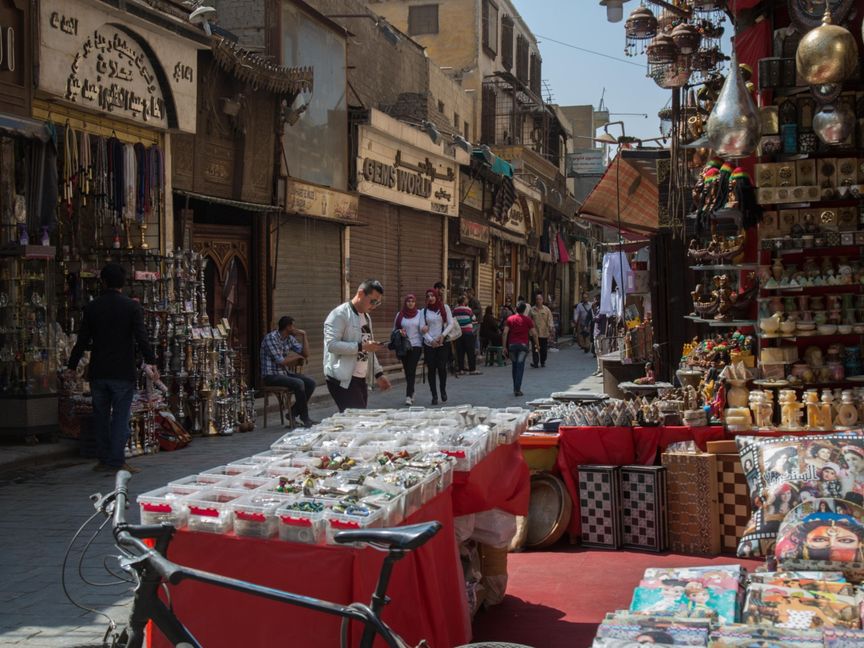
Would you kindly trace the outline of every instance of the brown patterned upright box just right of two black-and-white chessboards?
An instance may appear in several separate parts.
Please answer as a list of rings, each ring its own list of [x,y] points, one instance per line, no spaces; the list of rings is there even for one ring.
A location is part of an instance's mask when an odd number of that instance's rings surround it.
[[[717,458],[707,452],[664,452],[669,548],[688,555],[720,553]]]

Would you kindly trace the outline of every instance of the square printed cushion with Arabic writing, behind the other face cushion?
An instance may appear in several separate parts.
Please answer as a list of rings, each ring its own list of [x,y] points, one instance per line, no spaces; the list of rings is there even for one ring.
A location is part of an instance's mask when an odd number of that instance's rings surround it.
[[[804,502],[864,504],[864,433],[736,438],[750,488],[753,515],[738,540],[738,555],[773,552],[780,524]]]

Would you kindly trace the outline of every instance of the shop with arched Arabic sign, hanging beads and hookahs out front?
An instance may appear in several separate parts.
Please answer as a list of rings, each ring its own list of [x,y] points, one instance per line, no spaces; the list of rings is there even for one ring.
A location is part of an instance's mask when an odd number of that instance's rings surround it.
[[[168,131],[195,132],[197,50],[205,37],[193,26],[184,36],[109,13],[112,22],[87,2],[41,3],[42,73],[32,113],[51,134],[56,174],[42,186],[50,216],[36,231],[19,228],[19,243],[56,250],[56,273],[45,271],[56,289],[46,286],[29,301],[38,308],[37,297],[43,300],[59,325],[57,367],[66,363],[82,309],[100,292],[101,267],[126,268],[126,292],[144,308],[162,373],[155,386],[140,377],[128,448],[134,455],[159,448],[163,423],[162,445],[175,447],[186,427],[251,429],[253,408],[230,331],[207,317],[203,258],[172,252]],[[78,379],[62,385],[61,431],[70,436],[89,429],[85,372],[86,360]]]

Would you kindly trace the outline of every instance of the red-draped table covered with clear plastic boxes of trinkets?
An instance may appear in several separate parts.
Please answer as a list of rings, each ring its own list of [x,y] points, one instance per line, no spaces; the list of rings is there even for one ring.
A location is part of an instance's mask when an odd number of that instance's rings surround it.
[[[515,515],[527,513],[528,469],[515,443],[527,416],[473,406],[349,410],[140,495],[141,521],[179,529],[171,554],[182,564],[349,603],[370,597],[382,555],[335,546],[336,533],[438,520],[438,535],[394,571],[384,620],[412,645],[461,645],[481,593],[460,551],[471,538],[506,547]],[[298,607],[195,583],[171,588],[171,600],[202,643],[265,645],[285,628],[298,645],[339,643],[339,619]]]

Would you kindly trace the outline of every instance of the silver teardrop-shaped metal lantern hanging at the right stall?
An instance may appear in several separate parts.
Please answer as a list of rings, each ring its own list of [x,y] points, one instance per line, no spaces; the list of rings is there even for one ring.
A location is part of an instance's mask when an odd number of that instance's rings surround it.
[[[734,53],[705,131],[711,148],[725,158],[747,157],[759,144],[759,113]]]

